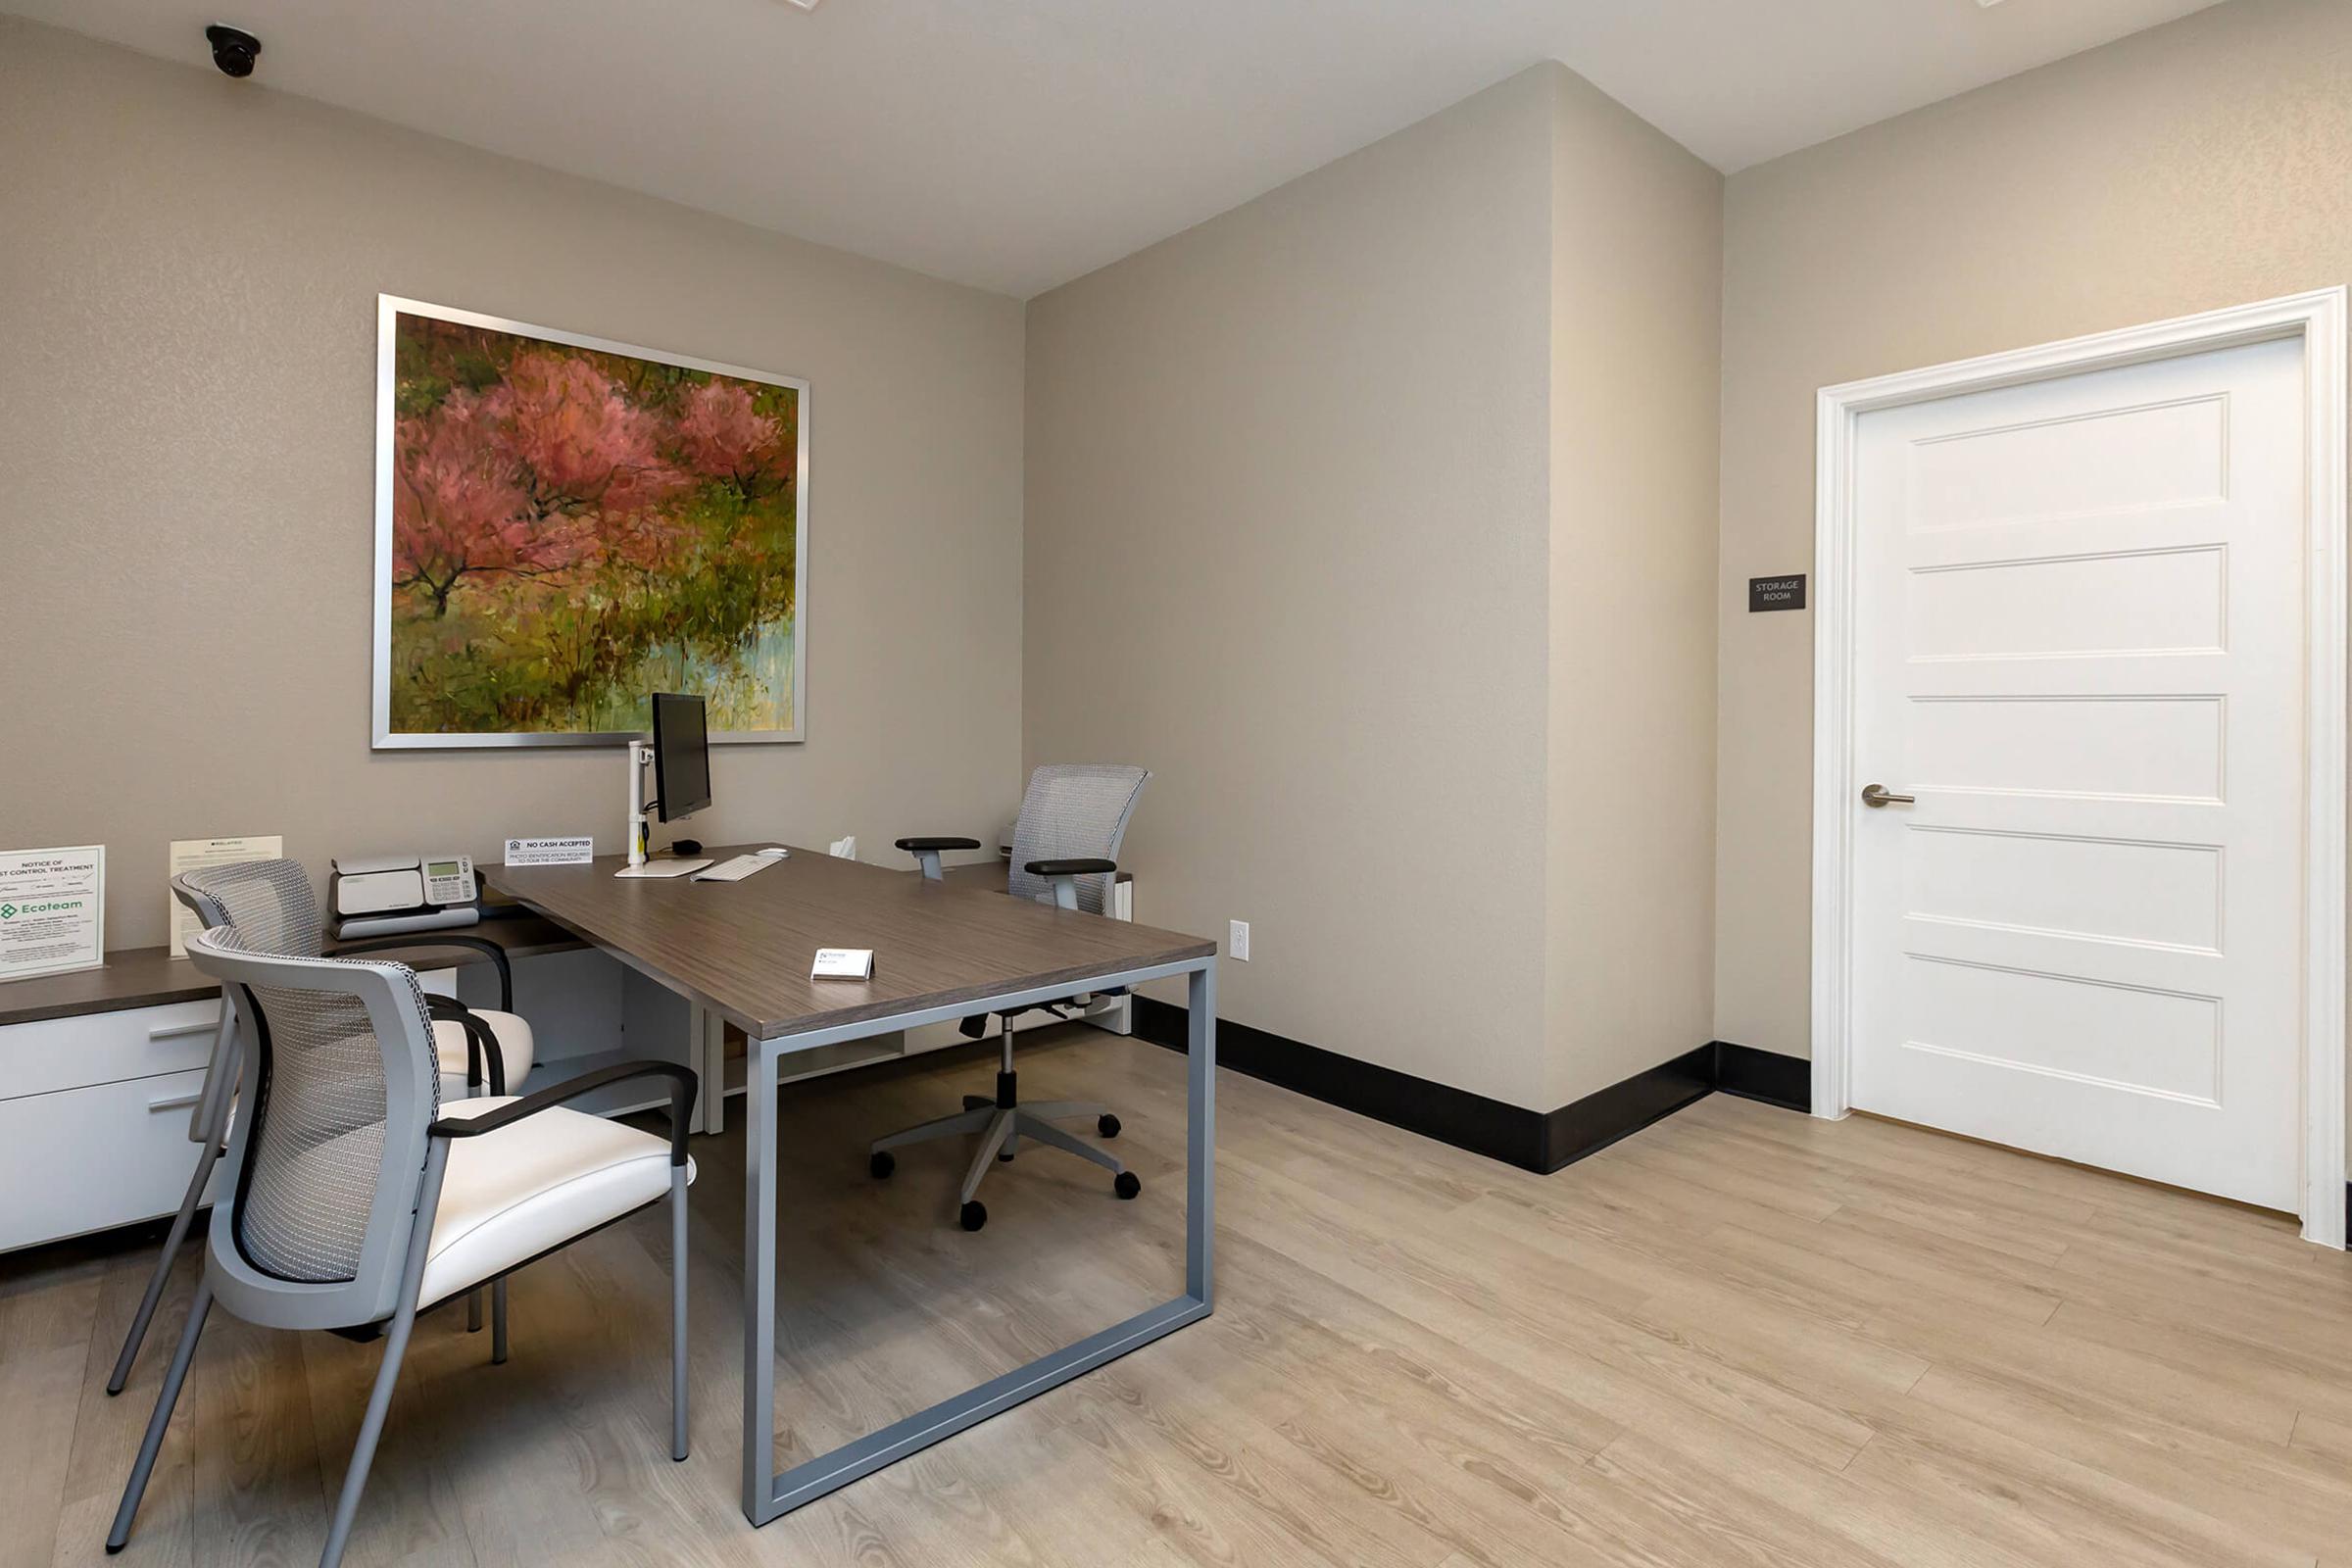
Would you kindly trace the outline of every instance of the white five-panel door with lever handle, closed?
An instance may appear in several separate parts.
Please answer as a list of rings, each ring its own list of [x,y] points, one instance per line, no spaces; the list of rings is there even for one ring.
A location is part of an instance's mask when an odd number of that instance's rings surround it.
[[[2303,343],[1856,423],[1853,1105],[2298,1208]]]

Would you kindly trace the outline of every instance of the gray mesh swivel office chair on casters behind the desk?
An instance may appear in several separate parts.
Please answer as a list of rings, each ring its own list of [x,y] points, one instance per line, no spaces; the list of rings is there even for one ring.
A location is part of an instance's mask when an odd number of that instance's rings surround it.
[[[1110,889],[1120,872],[1120,839],[1127,837],[1127,818],[1136,813],[1136,799],[1143,795],[1145,780],[1150,780],[1150,773],[1143,769],[1108,764],[1051,764],[1030,773],[1028,792],[1021,797],[1021,820],[1014,825],[1014,860],[1007,867],[1004,891],[1014,898],[1033,898],[1061,910],[1108,914]],[[941,851],[978,846],[978,839],[898,839],[898,849],[913,853],[922,865],[922,875],[931,882],[941,879]],[[1058,1004],[1042,1004],[1042,1009],[1061,1013]],[[1094,1126],[1103,1138],[1117,1138],[1120,1119],[1110,1114],[1110,1107],[1080,1100],[1021,1105],[1018,1079],[1014,1077],[1011,1020],[1028,1011],[1033,1009],[1000,1013],[1004,1034],[993,1100],[985,1095],[964,1095],[960,1114],[875,1138],[868,1152],[873,1173],[882,1178],[898,1166],[891,1150],[978,1133],[981,1145],[974,1150],[971,1168],[964,1173],[960,1208],[964,1229],[978,1229],[988,1222],[988,1206],[974,1192],[981,1190],[981,1178],[988,1175],[990,1164],[1011,1159],[1023,1138],[1035,1138],[1108,1168],[1112,1173],[1112,1192],[1122,1199],[1143,1192],[1141,1178],[1122,1166],[1115,1154],[1091,1143],[1080,1143],[1054,1126],[1054,1121],[1073,1117],[1094,1117]],[[964,1034],[978,1039],[988,1032],[988,1018],[967,1018],[962,1027]]]

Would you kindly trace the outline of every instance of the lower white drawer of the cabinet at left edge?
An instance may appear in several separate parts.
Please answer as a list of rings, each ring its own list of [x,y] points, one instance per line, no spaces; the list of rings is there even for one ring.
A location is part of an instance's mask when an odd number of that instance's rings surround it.
[[[0,1100],[0,1253],[179,1208],[205,1072]]]

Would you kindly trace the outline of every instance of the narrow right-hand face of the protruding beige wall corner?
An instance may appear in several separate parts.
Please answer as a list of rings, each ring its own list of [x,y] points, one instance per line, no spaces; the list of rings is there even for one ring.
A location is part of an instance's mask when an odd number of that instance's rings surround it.
[[[1710,1039],[1724,181],[1552,96],[1545,1105]]]

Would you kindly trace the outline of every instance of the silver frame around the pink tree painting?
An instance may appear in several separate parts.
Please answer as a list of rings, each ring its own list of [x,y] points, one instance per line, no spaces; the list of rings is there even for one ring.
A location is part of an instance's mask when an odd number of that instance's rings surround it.
[[[644,741],[644,731],[576,731],[576,733],[423,733],[423,731],[395,731],[393,729],[393,386],[395,386],[395,360],[397,360],[397,334],[402,315],[423,315],[437,322],[459,322],[461,327],[482,327],[487,331],[508,331],[527,339],[541,339],[546,343],[569,343],[572,348],[593,348],[607,355],[628,355],[633,360],[654,360],[656,364],[677,364],[682,369],[699,369],[713,376],[731,376],[734,381],[760,381],[764,386],[788,386],[800,395],[800,449],[795,451],[793,470],[793,729],[757,729],[757,731],[713,731],[713,743],[797,743],[809,738],[809,383],[800,376],[774,376],[764,369],[746,369],[741,364],[724,364],[720,360],[696,360],[694,355],[673,355],[659,348],[644,348],[640,343],[616,343],[612,339],[590,339],[579,331],[560,331],[555,327],[536,327],[532,322],[513,322],[503,315],[482,315],[480,310],[456,310],[452,306],[435,306],[421,299],[402,299],[397,294],[376,294],[376,581],[374,581],[374,663],[369,675],[369,750],[480,750],[480,748],[503,748],[503,745],[626,745],[628,741]]]

